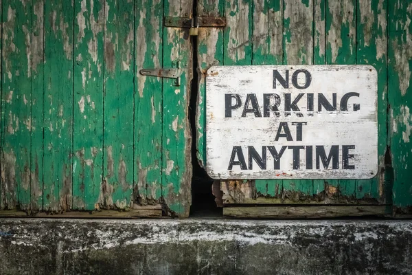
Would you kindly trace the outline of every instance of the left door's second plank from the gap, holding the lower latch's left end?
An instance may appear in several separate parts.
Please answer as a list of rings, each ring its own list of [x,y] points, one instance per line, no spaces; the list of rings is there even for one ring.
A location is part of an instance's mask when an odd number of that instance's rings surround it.
[[[135,186],[136,202],[156,204],[161,199],[162,80],[141,76],[141,69],[161,68],[163,3],[137,0],[135,10]],[[170,54],[170,52],[169,52]]]

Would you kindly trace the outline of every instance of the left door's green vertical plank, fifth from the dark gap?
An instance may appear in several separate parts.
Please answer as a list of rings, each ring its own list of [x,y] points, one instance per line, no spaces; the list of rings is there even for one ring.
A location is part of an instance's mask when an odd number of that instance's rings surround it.
[[[43,210],[71,209],[74,2],[45,1]]]

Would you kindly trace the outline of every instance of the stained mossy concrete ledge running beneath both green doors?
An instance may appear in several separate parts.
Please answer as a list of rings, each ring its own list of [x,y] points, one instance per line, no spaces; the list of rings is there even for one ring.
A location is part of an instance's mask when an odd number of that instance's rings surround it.
[[[412,221],[0,219],[0,274],[411,274]]]

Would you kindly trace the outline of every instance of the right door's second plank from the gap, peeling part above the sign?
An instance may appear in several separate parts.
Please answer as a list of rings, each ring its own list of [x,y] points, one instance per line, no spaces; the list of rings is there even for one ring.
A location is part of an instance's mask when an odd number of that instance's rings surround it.
[[[253,0],[226,1],[224,65],[251,65]]]

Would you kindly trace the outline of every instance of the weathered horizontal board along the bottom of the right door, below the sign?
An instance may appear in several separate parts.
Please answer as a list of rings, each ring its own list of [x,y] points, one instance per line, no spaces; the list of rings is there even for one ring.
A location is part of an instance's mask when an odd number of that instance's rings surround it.
[[[356,216],[385,216],[386,206],[264,206],[227,207],[223,216],[236,218],[315,219]]]

